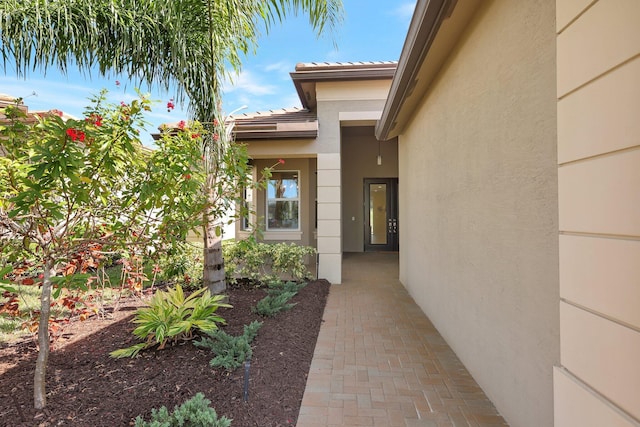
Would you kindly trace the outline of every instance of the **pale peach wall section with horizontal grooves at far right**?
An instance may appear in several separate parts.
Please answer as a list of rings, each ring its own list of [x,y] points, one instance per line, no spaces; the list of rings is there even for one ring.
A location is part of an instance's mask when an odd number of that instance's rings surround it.
[[[640,2],[558,0],[555,423],[640,425]]]

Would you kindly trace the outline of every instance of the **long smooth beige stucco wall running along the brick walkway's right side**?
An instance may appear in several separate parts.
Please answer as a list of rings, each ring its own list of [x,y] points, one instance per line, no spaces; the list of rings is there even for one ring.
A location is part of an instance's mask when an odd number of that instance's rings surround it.
[[[519,427],[559,361],[555,46],[553,1],[482,2],[398,143],[400,280]]]

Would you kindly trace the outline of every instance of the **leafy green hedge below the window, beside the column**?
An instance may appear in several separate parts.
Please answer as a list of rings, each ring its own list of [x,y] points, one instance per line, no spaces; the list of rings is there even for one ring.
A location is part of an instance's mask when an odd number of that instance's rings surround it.
[[[254,237],[225,242],[222,249],[226,278],[231,283],[237,278],[257,282],[278,278],[310,279],[305,258],[316,253],[310,246],[260,243]]]

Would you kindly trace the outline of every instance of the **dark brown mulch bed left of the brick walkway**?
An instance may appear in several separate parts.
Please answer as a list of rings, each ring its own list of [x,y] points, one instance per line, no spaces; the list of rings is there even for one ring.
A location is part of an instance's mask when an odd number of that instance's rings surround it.
[[[309,283],[293,299],[297,305],[274,318],[251,313],[265,291],[229,289],[233,309],[220,309],[233,335],[253,320],[264,324],[253,343],[249,400],[243,401],[244,370],[228,373],[209,366],[213,354],[184,342],[135,359],[112,359],[109,352],[136,341],[131,334],[140,300],[121,302],[113,319],[72,322],[49,357],[47,408],[33,409],[35,347],[26,342],[0,347],[0,425],[128,426],[152,408],[173,409],[202,392],[232,427],[294,426],[304,392],[329,283]]]

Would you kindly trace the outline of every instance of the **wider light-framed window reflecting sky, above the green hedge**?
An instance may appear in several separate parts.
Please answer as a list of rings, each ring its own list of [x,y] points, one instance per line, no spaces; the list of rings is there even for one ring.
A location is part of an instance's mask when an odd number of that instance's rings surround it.
[[[267,187],[267,230],[299,230],[298,171],[273,172]]]

